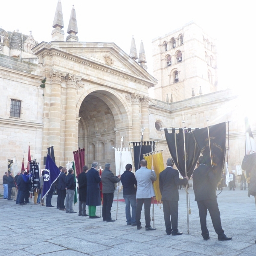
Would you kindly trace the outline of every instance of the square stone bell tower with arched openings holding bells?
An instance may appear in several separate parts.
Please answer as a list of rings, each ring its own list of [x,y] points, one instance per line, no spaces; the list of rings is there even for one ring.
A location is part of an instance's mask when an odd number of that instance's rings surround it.
[[[215,40],[193,21],[153,39],[154,97],[177,102],[217,90]],[[152,90],[152,89],[151,89]]]

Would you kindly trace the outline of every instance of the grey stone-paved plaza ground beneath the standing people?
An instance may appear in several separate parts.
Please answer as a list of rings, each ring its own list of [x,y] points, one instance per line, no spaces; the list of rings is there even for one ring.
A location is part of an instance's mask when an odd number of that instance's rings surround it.
[[[222,226],[226,235],[233,237],[231,241],[218,241],[209,216],[210,239],[202,239],[192,189],[189,194],[191,215],[187,234],[186,194],[180,191],[179,230],[183,231],[182,236],[166,235],[163,207],[159,209],[157,205],[154,207],[157,230],[145,231],[126,225],[124,202],[119,202],[118,220],[107,223],[102,218],[89,219],[34,204],[19,206],[14,201],[0,199],[0,256],[256,255],[256,208],[254,198],[248,198],[247,191],[224,188],[218,196]],[[56,200],[57,196],[53,196],[55,206]],[[78,211],[78,204],[74,210]],[[99,207],[96,214],[99,215]],[[116,217],[116,201],[112,217]],[[145,225],[144,218],[142,225]]]

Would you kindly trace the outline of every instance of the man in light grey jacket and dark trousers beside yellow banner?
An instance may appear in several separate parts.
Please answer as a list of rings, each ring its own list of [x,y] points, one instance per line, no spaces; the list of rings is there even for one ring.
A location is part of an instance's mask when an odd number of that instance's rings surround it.
[[[145,214],[145,228],[148,230],[156,230],[156,228],[151,227],[150,225],[150,205],[151,198],[155,196],[154,187],[152,181],[157,180],[157,175],[154,172],[154,167],[152,166],[152,170],[147,169],[147,161],[140,161],[140,169],[135,172],[135,177],[137,180],[137,209],[136,209],[136,223],[137,229],[140,230],[141,222],[141,210],[144,203],[144,214]]]

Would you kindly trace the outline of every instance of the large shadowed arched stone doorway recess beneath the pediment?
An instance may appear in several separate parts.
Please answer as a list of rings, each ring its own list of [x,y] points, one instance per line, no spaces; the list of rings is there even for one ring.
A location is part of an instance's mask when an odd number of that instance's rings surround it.
[[[128,143],[131,135],[131,120],[125,108],[127,102],[124,101],[105,90],[93,91],[82,100],[79,108],[78,146],[86,149],[85,162],[89,167],[93,161],[99,162],[103,168],[108,162],[115,172],[113,147],[120,147],[121,136]]]

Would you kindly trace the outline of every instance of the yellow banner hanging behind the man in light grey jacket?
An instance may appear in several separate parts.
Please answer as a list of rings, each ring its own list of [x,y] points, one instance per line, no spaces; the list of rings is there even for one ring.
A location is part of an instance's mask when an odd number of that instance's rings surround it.
[[[148,169],[151,169],[152,158],[153,158],[154,171],[157,175],[157,180],[154,181],[154,192],[156,194],[157,202],[160,202],[162,196],[161,196],[160,189],[159,189],[159,174],[160,174],[160,172],[162,172],[165,169],[164,165],[163,165],[162,151],[158,152],[156,154],[154,154],[154,152],[153,152],[153,154],[149,155],[149,156],[144,155],[144,159],[147,160],[147,163],[148,163],[148,166],[147,166]]]

